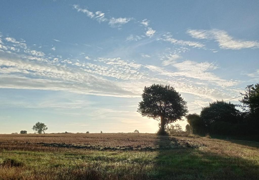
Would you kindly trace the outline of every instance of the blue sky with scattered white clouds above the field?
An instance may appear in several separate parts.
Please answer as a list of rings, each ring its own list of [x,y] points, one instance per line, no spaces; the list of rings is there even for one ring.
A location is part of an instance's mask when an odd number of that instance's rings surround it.
[[[2,134],[33,133],[37,121],[47,133],[155,133],[159,122],[136,112],[145,86],[170,84],[199,113],[259,82],[258,1],[2,0],[0,9]]]

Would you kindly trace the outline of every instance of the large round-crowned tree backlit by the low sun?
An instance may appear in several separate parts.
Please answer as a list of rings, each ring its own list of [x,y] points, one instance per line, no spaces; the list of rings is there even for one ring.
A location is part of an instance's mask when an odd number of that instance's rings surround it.
[[[141,95],[138,112],[142,116],[160,120],[158,134],[166,135],[165,126],[181,119],[188,112],[187,102],[170,85],[153,84],[146,87]]]

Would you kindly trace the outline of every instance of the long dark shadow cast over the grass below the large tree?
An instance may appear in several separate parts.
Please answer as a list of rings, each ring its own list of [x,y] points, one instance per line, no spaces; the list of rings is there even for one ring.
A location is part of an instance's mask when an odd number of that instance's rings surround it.
[[[160,146],[177,143],[170,136],[159,136]],[[178,143],[179,146],[179,143]],[[208,152],[203,148],[180,146],[160,149],[152,179],[258,179],[258,162]]]

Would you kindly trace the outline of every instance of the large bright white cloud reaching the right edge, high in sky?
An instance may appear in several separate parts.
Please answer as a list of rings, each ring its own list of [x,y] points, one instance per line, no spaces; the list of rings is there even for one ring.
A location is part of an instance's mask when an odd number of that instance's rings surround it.
[[[218,42],[221,49],[243,49],[243,48],[259,48],[258,41],[246,41],[234,39],[226,31],[212,30],[188,30],[186,31],[191,37],[196,39],[214,39]]]

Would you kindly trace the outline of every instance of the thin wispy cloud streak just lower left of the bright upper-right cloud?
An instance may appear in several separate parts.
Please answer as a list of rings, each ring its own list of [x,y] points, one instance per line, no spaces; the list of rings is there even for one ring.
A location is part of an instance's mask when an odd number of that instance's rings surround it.
[[[172,44],[181,45],[181,46],[191,46],[191,47],[197,47],[197,48],[205,47],[205,45],[200,42],[177,40],[175,38],[172,38],[172,35],[170,33],[164,34],[163,37],[158,40],[167,41]]]

